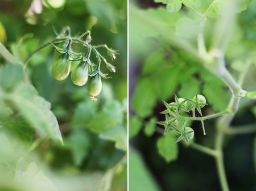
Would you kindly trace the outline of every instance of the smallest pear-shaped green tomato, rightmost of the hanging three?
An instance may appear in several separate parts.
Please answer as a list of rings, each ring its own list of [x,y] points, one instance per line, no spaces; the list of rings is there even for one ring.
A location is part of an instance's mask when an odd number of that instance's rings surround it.
[[[101,76],[96,74],[91,77],[87,84],[87,91],[90,96],[98,96],[100,94],[102,88]]]

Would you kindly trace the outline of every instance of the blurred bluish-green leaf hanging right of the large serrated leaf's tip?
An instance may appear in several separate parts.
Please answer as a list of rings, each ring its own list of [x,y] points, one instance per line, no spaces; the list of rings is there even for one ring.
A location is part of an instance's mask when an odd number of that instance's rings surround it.
[[[76,126],[71,135],[69,135],[69,141],[71,142],[73,161],[76,165],[80,166],[89,153],[90,137],[88,132]]]

